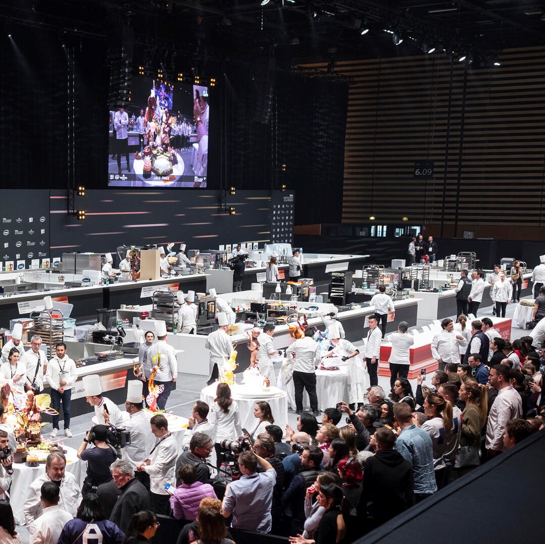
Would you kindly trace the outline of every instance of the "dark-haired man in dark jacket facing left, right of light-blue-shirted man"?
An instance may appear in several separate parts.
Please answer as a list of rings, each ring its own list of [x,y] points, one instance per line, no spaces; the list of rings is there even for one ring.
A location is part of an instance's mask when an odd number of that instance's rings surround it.
[[[316,481],[323,458],[324,452],[318,446],[306,446],[301,454],[301,470],[283,494],[284,526],[291,521],[290,535],[299,535],[304,530],[305,493]]]

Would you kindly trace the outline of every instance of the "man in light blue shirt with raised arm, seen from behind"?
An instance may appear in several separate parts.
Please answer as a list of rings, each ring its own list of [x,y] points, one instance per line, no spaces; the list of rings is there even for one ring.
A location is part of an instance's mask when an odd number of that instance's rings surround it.
[[[264,472],[258,473],[258,465]],[[238,456],[240,480],[227,484],[222,502],[223,517],[233,515],[231,527],[258,533],[270,533],[272,527],[272,491],[276,471],[269,461],[252,451]]]

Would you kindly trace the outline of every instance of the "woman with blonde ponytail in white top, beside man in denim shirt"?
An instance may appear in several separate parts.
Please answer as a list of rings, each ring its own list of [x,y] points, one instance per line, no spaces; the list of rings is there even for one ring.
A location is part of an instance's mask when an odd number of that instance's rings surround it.
[[[427,415],[428,420],[422,424],[421,428],[432,439],[435,482],[437,488],[441,489],[446,483],[444,455],[453,432],[452,404],[450,401],[445,400],[443,395],[430,393],[424,400],[424,413]]]

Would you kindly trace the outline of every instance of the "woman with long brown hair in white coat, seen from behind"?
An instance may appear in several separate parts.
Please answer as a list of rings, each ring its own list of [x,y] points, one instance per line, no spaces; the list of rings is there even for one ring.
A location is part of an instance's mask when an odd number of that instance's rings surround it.
[[[220,454],[222,451],[228,451],[221,447],[224,440],[236,441],[243,436],[240,427],[240,418],[237,401],[231,397],[231,388],[227,383],[217,384],[216,398],[214,404],[210,406],[208,413],[208,423],[216,429],[216,467],[221,467]]]

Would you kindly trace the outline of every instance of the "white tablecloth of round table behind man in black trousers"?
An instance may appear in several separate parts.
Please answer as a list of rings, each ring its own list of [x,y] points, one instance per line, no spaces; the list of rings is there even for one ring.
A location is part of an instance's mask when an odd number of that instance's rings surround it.
[[[283,371],[280,371],[277,386],[286,391],[288,405],[295,409],[295,389],[293,380],[284,383]],[[318,408],[323,412],[325,408],[334,408],[337,402],[348,402],[348,376],[347,367],[339,370],[317,370],[316,371],[316,394],[318,396]],[[303,409],[310,410],[310,401],[305,391],[303,392]]]

